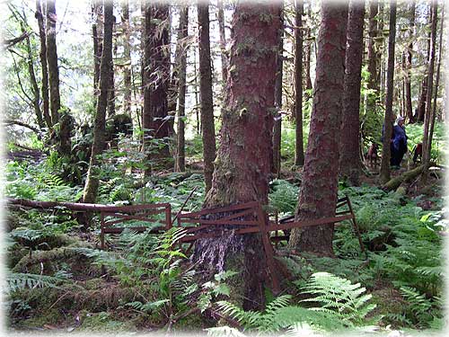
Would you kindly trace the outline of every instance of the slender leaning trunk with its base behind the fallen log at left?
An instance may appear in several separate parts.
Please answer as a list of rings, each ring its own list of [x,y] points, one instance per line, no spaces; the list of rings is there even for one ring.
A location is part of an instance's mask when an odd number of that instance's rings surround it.
[[[100,67],[100,94],[98,96],[95,123],[93,125],[92,155],[89,170],[84,186],[83,202],[93,203],[97,197],[99,179],[97,174],[101,168],[99,155],[105,147],[104,133],[106,122],[106,109],[108,106],[108,93],[110,91],[110,64],[112,63],[112,26],[114,16],[112,14],[112,2],[104,3],[104,35],[103,49],[101,53]]]

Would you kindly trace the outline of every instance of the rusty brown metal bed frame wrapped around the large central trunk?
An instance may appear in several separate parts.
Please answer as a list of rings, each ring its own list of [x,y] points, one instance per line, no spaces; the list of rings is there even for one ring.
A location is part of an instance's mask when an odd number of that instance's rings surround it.
[[[341,209],[348,206],[348,209]],[[229,214],[231,213],[232,214]],[[154,217],[157,214],[164,214],[164,219],[157,220]],[[224,215],[225,214],[225,215]],[[227,215],[226,215],[227,214]],[[115,217],[116,219],[108,219],[106,217]],[[216,218],[217,217],[217,218]],[[194,242],[198,239],[207,237],[217,237],[224,234],[227,230],[233,230],[235,234],[253,234],[260,233],[269,274],[273,282],[273,290],[279,290],[279,280],[274,261],[274,250],[271,242],[276,244],[279,241],[288,240],[288,235],[279,235],[279,231],[286,231],[292,228],[302,228],[306,226],[320,226],[337,224],[344,220],[350,220],[354,227],[355,235],[362,252],[365,253],[365,247],[362,243],[358,230],[356,217],[352,209],[351,202],[348,197],[340,198],[337,201],[335,217],[324,217],[313,220],[295,221],[295,217],[284,217],[277,221],[269,221],[269,217],[260,205],[260,202],[253,201],[244,204],[228,206],[224,208],[202,209],[197,212],[179,213],[176,215],[177,226],[186,229],[185,235],[180,238],[180,244],[189,243],[187,252],[191,249]],[[139,220],[147,223],[158,222],[164,226],[151,228],[153,233],[162,233],[172,228],[172,208],[169,203],[122,206],[110,208],[107,211],[101,211],[101,248],[105,248],[104,235],[119,234],[125,227],[117,227],[116,225],[124,223],[128,220]],[[232,226],[232,228],[229,228]],[[147,226],[130,226],[129,229],[136,232],[144,232]],[[270,232],[275,232],[270,235]]]

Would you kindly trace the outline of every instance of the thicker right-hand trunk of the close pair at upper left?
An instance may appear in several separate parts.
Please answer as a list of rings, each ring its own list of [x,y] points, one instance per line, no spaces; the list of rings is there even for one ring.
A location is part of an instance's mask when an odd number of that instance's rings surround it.
[[[57,67],[56,22],[55,0],[47,0],[47,62],[52,124],[57,123],[57,113],[61,107],[61,99],[59,96],[59,68]]]

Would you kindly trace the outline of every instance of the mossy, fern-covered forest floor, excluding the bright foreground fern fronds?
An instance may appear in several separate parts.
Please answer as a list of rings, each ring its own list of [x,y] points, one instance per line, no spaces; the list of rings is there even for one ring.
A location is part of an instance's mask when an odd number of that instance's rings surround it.
[[[200,163],[195,163],[195,169],[198,167]],[[81,187],[68,186],[44,171],[33,171],[26,162],[14,164],[8,172],[7,194],[66,201],[79,194]],[[270,183],[270,206],[281,215],[289,215],[295,211],[301,173],[286,171],[281,177]],[[100,200],[171,202],[177,211],[198,186],[185,206],[186,211],[197,210],[204,199],[202,179],[198,173],[168,173],[136,191],[117,181],[101,190]],[[363,178],[361,187],[342,184],[339,188],[339,193],[348,195],[354,205],[368,260],[360,252],[350,226],[336,227],[334,259],[288,253],[285,244],[280,244],[278,259],[290,273],[282,283],[283,294],[292,296],[288,306],[299,305],[307,279],[326,271],[361,283],[370,303],[376,306],[364,319],[357,324],[351,321],[349,326],[374,324],[383,332],[438,331],[445,323],[442,235],[447,233],[447,223],[443,217],[443,179],[431,174],[424,186],[416,180],[405,191],[389,193],[377,187],[377,180],[378,175],[372,174]],[[38,182],[32,187],[39,193],[25,188],[31,181]],[[189,274],[189,256],[168,259],[164,255],[167,252],[161,253],[161,240],[166,243],[167,237],[124,233],[110,237],[108,244],[114,249],[103,252],[98,249],[98,217],[93,220],[86,232],[64,209],[43,212],[9,208],[9,329],[43,333],[198,332],[233,322],[222,319],[218,323],[217,317],[225,313],[220,312],[215,299],[225,298],[225,293],[218,297],[216,288],[196,283],[194,275]],[[157,247],[160,255],[154,254]],[[170,274],[168,270],[176,272]],[[180,285],[180,281],[184,283]],[[219,282],[217,285],[222,287]],[[198,315],[200,312],[203,314]]]

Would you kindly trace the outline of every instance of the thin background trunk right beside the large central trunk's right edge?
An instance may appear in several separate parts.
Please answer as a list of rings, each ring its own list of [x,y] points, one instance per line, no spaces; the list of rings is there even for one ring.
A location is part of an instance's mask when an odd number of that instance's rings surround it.
[[[282,77],[284,66],[284,4],[279,6],[279,18],[281,20],[281,29],[279,30],[279,49],[277,50],[277,70],[276,70],[276,84],[275,84],[275,105],[277,107],[277,116],[275,118],[275,126],[273,130],[273,167],[272,173],[277,177],[280,174],[281,162],[281,130],[282,130],[282,115],[280,109],[282,108]]]

